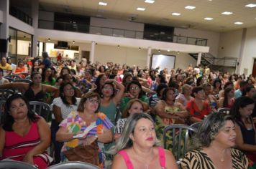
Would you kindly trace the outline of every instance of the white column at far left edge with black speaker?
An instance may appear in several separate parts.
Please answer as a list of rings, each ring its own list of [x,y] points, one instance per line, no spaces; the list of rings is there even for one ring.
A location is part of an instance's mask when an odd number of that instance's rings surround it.
[[[3,23],[0,29],[0,39],[7,39],[9,37],[9,0],[0,1],[0,11],[3,11]],[[9,47],[7,41],[7,48]],[[7,50],[8,51],[8,50]],[[8,52],[2,53],[3,57],[8,57]]]

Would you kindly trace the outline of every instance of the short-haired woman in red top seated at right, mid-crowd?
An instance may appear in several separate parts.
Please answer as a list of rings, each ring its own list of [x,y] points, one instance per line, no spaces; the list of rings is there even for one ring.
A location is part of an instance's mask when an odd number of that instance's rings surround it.
[[[206,115],[209,115],[211,107],[209,103],[204,100],[205,93],[203,87],[194,87],[192,95],[194,100],[189,101],[186,107],[190,115],[188,121],[191,123],[201,122]]]

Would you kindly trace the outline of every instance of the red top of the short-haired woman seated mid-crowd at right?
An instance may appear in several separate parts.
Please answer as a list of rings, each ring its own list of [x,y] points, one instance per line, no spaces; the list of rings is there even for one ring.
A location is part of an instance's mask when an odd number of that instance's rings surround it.
[[[199,110],[195,100],[190,100],[187,103],[186,109],[188,110],[190,115],[201,120],[204,119],[205,115],[209,115],[209,113],[211,112],[211,107],[207,101],[204,101],[203,109]]]

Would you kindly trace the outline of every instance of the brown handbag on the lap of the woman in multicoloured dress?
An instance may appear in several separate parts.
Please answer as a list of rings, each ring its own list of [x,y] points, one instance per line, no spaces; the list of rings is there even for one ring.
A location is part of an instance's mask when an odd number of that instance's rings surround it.
[[[99,165],[99,146],[95,140],[91,145],[78,145],[63,152],[69,161],[81,161]]]

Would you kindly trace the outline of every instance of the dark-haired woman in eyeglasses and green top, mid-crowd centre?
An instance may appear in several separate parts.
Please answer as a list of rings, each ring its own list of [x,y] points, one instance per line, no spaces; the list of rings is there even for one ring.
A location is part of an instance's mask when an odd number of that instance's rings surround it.
[[[126,88],[126,94],[124,97],[122,97],[121,103],[120,103],[120,110],[123,112],[124,107],[126,107],[129,100],[132,99],[139,99],[142,102],[146,102],[147,105],[149,105],[149,99],[146,95],[143,95],[142,91],[142,85],[137,80],[133,80],[129,84],[127,84]]]

